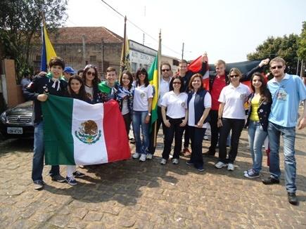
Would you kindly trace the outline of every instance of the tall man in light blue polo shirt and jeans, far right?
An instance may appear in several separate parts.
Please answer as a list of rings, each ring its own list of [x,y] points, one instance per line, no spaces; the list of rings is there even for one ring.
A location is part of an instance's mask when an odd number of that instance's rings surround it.
[[[286,74],[286,63],[283,58],[274,58],[270,61],[270,70],[274,76],[267,86],[272,94],[272,107],[269,115],[269,146],[270,146],[270,177],[262,180],[265,185],[279,183],[281,170],[279,169],[279,142],[283,136],[283,155],[285,157],[285,182],[288,192],[288,201],[298,204],[295,195],[295,126],[298,129],[306,126],[306,88],[297,75]],[[304,101],[304,111],[298,120],[298,107]]]

